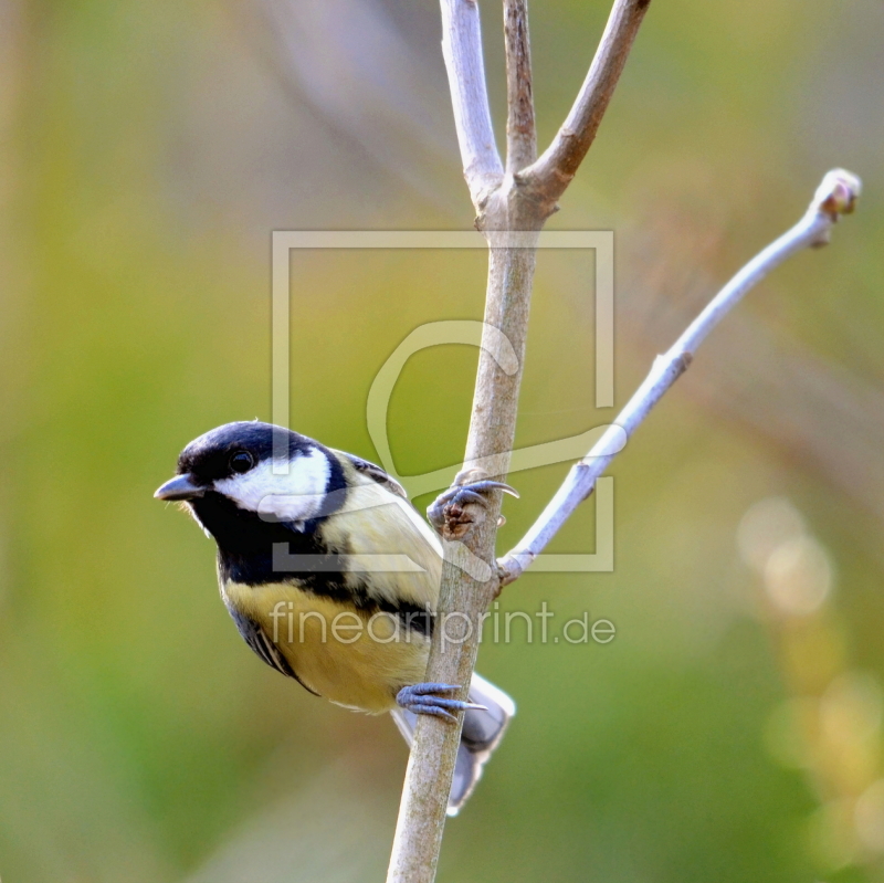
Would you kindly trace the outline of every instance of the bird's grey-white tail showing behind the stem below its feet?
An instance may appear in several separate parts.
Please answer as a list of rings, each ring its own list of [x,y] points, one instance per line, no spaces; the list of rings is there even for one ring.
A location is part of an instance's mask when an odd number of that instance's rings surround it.
[[[506,693],[475,673],[470,684],[470,702],[484,705],[487,711],[473,708],[464,713],[461,747],[457,749],[454,781],[449,795],[449,816],[456,816],[473,792],[482,776],[482,767],[503,738],[509,718],[516,713],[516,704]],[[392,716],[410,746],[418,715],[397,708]]]

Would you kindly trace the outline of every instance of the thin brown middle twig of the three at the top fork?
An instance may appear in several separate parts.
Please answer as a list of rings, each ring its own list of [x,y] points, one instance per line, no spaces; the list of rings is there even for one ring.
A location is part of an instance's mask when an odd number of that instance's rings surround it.
[[[506,50],[506,171],[513,175],[537,159],[532,46],[527,0],[504,0]]]

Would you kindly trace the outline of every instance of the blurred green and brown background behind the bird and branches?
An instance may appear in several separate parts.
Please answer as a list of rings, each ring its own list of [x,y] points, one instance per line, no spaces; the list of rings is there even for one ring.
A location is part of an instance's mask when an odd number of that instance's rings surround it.
[[[533,8],[543,144],[607,13]],[[381,880],[399,735],[262,665],[212,544],[151,493],[193,437],[271,416],[272,230],[470,228],[438,9],[2,0],[0,25],[0,876]],[[441,881],[884,880],[883,36],[880,0],[652,4],[550,223],[615,231],[618,404],[828,168],[865,193],[618,460],[614,572],[502,597],[618,635],[483,649],[519,714]],[[292,266],[293,425],[373,459],[375,372],[418,325],[481,317],[482,256]],[[541,255],[520,445],[613,417],[590,280]],[[475,360],[409,362],[403,474],[461,455]],[[565,471],[514,476],[502,551]],[[591,551],[593,517],[554,550]]]

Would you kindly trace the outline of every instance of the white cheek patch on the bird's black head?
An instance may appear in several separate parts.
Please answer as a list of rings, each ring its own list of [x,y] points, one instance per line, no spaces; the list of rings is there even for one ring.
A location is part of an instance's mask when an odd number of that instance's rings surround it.
[[[240,508],[283,522],[304,522],[323,507],[330,466],[318,449],[299,454],[285,474],[273,472],[273,461],[263,460],[242,475],[214,483],[215,490]]]

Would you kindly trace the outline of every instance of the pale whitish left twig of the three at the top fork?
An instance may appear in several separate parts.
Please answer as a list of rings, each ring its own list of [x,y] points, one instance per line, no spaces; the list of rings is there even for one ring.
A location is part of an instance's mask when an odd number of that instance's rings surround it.
[[[449,73],[463,176],[476,212],[503,179],[491,125],[476,0],[442,0],[442,55]]]

